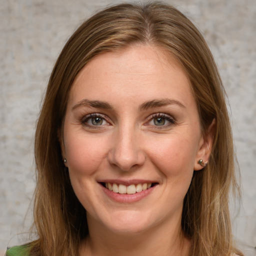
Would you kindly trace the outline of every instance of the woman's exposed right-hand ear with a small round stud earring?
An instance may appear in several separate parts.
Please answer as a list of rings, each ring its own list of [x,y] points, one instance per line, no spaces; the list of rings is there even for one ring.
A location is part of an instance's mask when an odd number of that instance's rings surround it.
[[[207,128],[207,130],[204,132],[204,134],[201,135],[201,138],[198,143],[197,153],[194,159],[194,170],[202,169],[208,161],[212,147],[213,137],[215,134],[215,123],[216,121],[214,118],[209,127]],[[198,163],[200,159],[202,159],[204,166]]]

